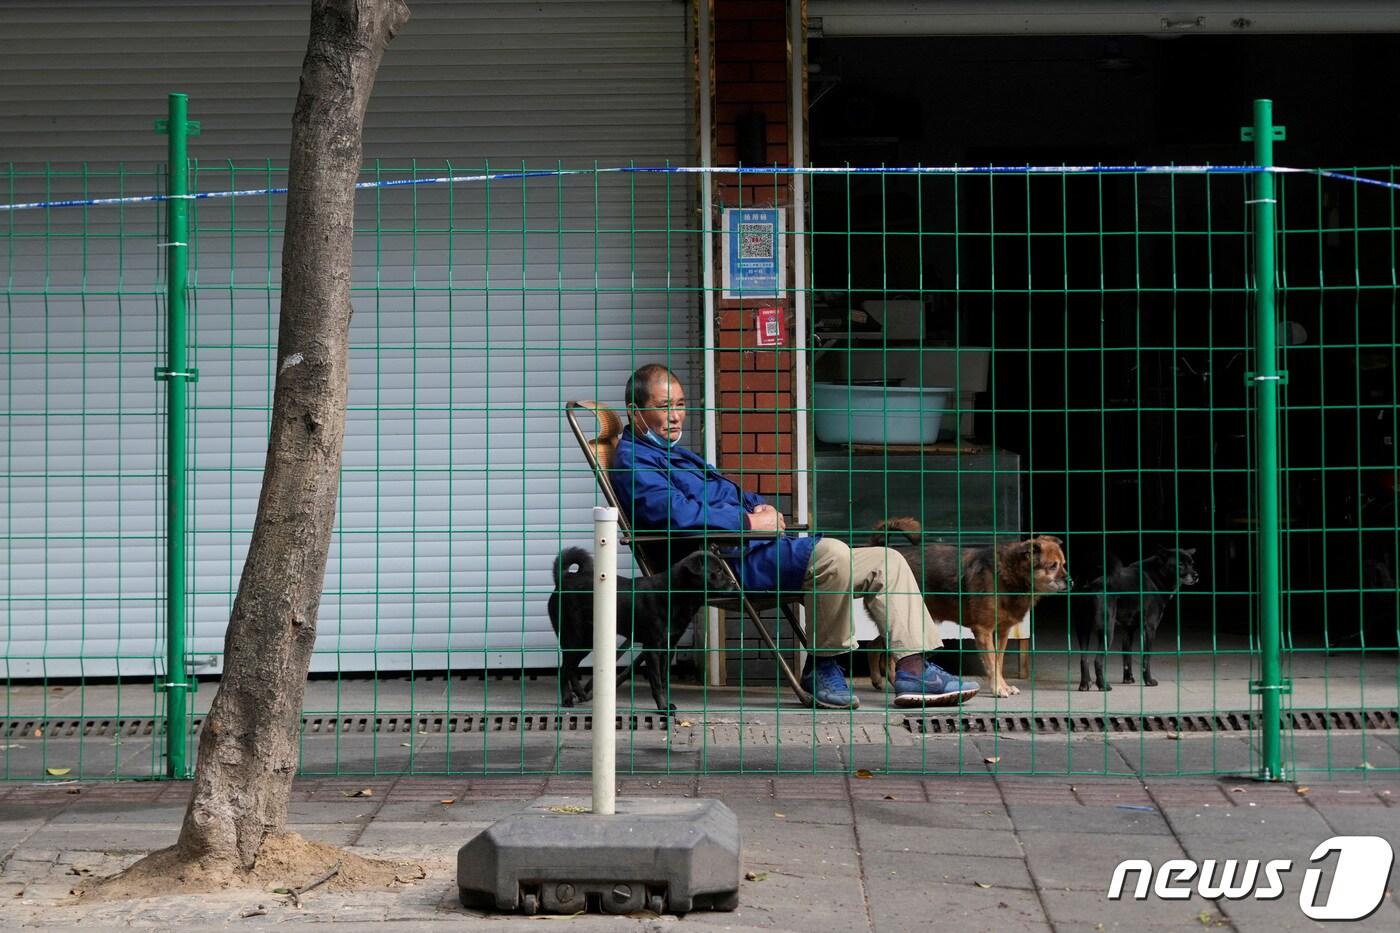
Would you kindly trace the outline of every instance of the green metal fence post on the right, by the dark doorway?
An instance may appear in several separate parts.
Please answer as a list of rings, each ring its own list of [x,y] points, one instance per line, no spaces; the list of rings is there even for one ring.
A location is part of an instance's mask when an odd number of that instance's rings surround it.
[[[1254,164],[1273,167],[1274,140],[1284,139],[1284,127],[1274,126],[1274,102],[1254,101],[1254,126],[1245,127],[1243,139],[1254,140]],[[1274,321],[1274,175],[1256,175],[1254,185],[1254,318],[1256,373],[1250,375],[1256,391],[1259,430],[1254,433],[1256,464],[1259,465],[1259,637],[1263,653],[1263,678],[1250,685],[1250,692],[1263,698],[1264,765],[1261,780],[1282,780],[1281,696],[1288,685],[1280,664],[1280,532],[1278,532],[1278,384],[1285,374],[1278,371],[1278,338]]]

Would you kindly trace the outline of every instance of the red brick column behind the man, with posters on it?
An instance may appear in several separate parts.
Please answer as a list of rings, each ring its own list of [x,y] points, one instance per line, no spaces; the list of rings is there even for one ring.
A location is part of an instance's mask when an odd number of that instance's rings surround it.
[[[787,165],[791,112],[787,0],[715,0],[714,21],[715,164],[739,163],[739,127],[753,115],[762,115],[766,122],[763,164]],[[717,175],[714,191],[724,207],[785,207],[791,203],[788,175]],[[785,228],[791,233],[791,217]],[[795,248],[791,237],[785,248],[791,282]],[[717,282],[720,272],[721,254],[717,251]],[[755,312],[764,305],[777,305],[783,311],[787,324],[784,347],[757,347]],[[736,301],[717,296],[715,308],[720,346],[715,354],[718,466],[750,492],[767,497],[791,496],[795,466],[791,301]]]

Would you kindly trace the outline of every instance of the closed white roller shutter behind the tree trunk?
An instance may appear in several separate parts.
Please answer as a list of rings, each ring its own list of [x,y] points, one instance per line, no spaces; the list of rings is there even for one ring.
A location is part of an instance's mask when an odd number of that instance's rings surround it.
[[[686,4],[410,6],[365,126],[365,160],[384,178],[689,160]],[[300,0],[0,6],[0,167],[15,163],[0,199],[154,191],[164,137],[151,120],[169,91],[188,92],[203,125],[190,144],[200,191],[283,185],[266,165],[286,160],[305,31]],[[45,161],[71,174],[45,181]],[[619,403],[627,374],[668,353],[699,398],[686,349],[697,244],[680,233],[694,227],[692,191],[671,177],[578,175],[361,195],[340,516],[314,670],[554,664],[550,560],[588,544],[596,499],[561,406]],[[8,677],[160,668],[160,213],[0,217]],[[256,510],[281,248],[266,230],[281,213],[280,198],[197,205],[196,664],[221,650]]]

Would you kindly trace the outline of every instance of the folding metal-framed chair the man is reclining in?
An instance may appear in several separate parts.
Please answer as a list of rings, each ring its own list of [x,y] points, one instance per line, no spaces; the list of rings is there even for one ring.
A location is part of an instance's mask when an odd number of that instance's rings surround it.
[[[582,427],[578,424],[578,410],[592,412],[598,419],[598,433],[592,440],[584,433]],[[617,437],[622,434],[622,417],[617,412],[612,410],[606,405],[599,402],[568,402],[564,406],[564,417],[568,419],[568,427],[574,431],[574,438],[578,441],[580,450],[584,452],[584,458],[588,461],[589,468],[594,471],[594,479],[598,481],[598,488],[602,489],[603,499],[608,504],[617,510],[617,531],[622,544],[631,549],[633,559],[644,574],[655,573],[658,569],[669,566],[665,560],[669,556],[669,546],[672,544],[685,545],[686,542],[693,542],[694,545],[707,546],[714,553],[720,555],[724,548],[734,548],[742,545],[745,541],[752,541],[756,532],[748,532],[746,535],[739,534],[725,534],[725,532],[672,532],[672,531],[633,531],[631,523],[627,518],[627,510],[622,507],[617,500],[617,493],[612,488],[612,481],[608,479],[608,468],[612,465],[613,452],[617,448]],[[805,525],[790,525],[788,531],[805,531]],[[658,553],[661,551],[661,553]],[[769,626],[763,623],[760,611],[777,608],[787,618],[788,625],[792,628],[794,636],[797,636],[798,644],[804,650],[811,647],[808,642],[806,632],[802,630],[802,623],[794,611],[794,605],[801,605],[801,593],[790,594],[762,594],[757,597],[745,595],[739,579],[735,576],[734,570],[729,567],[728,562],[724,563],[725,573],[734,580],[735,594],[722,594],[711,598],[707,605],[714,609],[724,611],[742,611],[753,626],[759,630],[759,636],[763,643],[773,653],[773,658],[778,663],[778,670],[783,678],[792,686],[792,692],[798,695],[798,699],[804,705],[812,703],[812,695],[802,689],[802,681],[797,674],[792,672],[791,665],[783,657],[778,650],[778,643],[773,637],[773,632]]]

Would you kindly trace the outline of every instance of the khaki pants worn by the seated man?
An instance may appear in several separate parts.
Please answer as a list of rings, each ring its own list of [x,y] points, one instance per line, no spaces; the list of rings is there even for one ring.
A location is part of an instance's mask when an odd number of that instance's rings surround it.
[[[865,611],[896,657],[932,651],[942,644],[928,615],[918,580],[903,555],[889,548],[848,548],[822,538],[806,567],[806,612],[816,639],[812,651],[830,657],[855,647],[851,598],[865,597]]]

